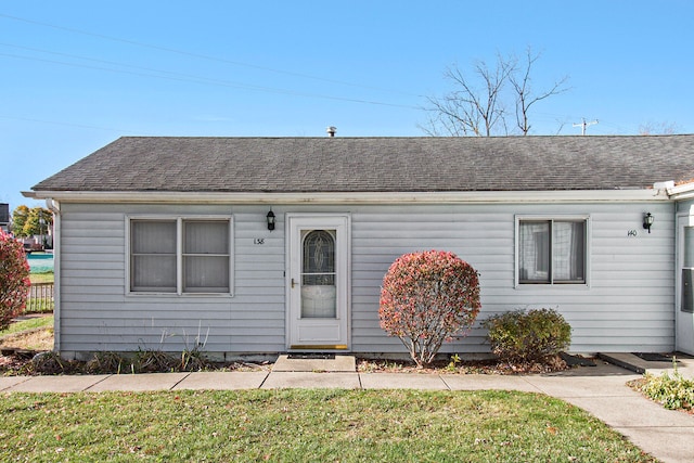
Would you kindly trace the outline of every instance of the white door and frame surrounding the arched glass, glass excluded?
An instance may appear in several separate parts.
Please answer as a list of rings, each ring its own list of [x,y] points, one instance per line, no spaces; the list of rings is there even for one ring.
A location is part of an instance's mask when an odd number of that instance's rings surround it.
[[[335,230],[335,319],[301,319],[301,231]],[[351,218],[348,214],[286,214],[286,348],[349,350],[351,343]]]

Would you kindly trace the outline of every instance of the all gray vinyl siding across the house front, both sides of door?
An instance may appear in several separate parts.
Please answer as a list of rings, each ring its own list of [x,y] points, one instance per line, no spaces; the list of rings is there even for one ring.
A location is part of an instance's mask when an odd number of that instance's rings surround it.
[[[550,307],[574,329],[571,350],[667,351],[673,347],[673,204],[545,205],[87,205],[61,216],[62,351],[181,350],[207,338],[209,352],[285,350],[285,213],[351,215],[351,350],[404,352],[378,325],[384,273],[400,255],[444,249],[480,273],[478,320],[506,310]],[[652,233],[643,214],[655,217]],[[231,215],[234,295],[153,296],[126,291],[126,217],[137,214]],[[515,217],[590,217],[587,285],[514,286]],[[629,231],[637,235],[630,236]],[[255,239],[265,244],[254,244]],[[484,352],[476,326],[445,351]]]

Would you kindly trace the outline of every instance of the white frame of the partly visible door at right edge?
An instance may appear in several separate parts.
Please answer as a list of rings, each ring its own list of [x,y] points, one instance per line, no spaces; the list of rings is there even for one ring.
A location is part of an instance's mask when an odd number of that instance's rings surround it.
[[[683,312],[682,307],[682,269],[684,268],[684,228],[694,227],[694,216],[678,214],[677,216],[677,259],[674,267],[674,349],[694,355],[694,313]],[[687,267],[689,268],[689,267]]]

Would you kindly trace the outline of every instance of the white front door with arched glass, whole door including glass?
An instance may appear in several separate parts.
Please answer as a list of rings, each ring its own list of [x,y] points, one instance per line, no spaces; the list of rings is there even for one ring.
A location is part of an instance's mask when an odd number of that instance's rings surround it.
[[[287,348],[349,349],[349,217],[287,215]]]

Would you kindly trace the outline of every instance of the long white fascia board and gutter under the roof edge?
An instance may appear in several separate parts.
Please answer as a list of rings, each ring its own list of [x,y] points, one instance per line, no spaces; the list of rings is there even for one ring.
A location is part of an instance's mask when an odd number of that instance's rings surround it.
[[[203,192],[23,192],[35,200],[65,203],[234,203],[234,204],[454,204],[595,203],[670,201],[658,190],[369,192],[369,193],[203,193]]]

